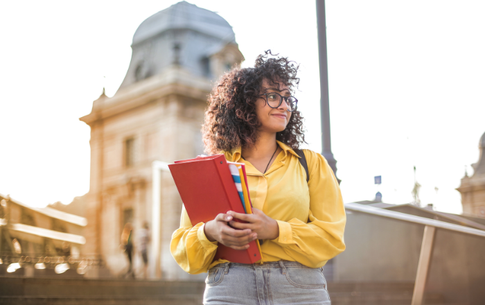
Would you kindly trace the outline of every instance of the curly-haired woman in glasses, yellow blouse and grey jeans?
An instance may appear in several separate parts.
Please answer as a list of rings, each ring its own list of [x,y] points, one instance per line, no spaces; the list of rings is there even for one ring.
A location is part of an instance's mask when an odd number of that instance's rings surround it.
[[[204,304],[330,304],[323,266],[345,249],[344,204],[332,170],[303,150],[307,182],[294,151],[304,142],[292,97],[298,67],[270,55],[220,78],[202,128],[207,153],[246,164],[254,214],[227,211],[192,226],[183,209],[172,236],[170,250],[186,272],[209,270]],[[243,250],[256,239],[263,263],[213,261],[218,243]]]

